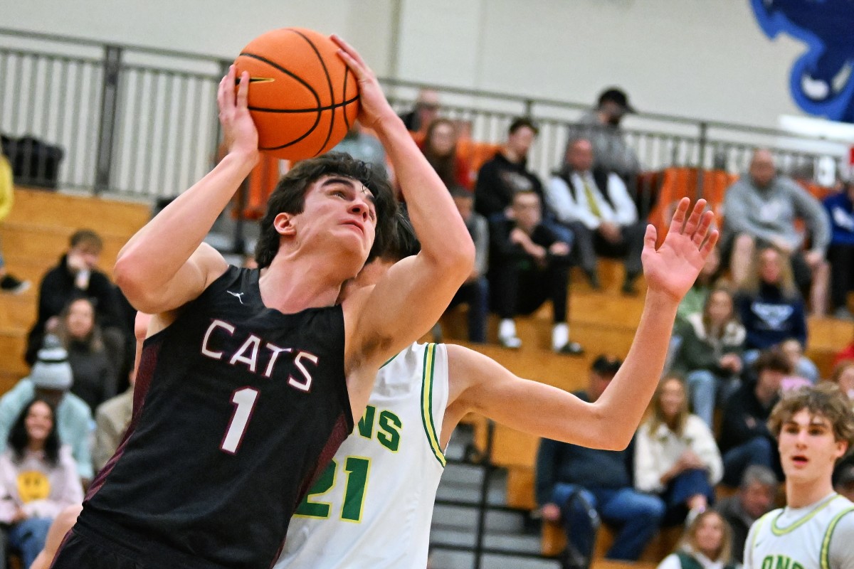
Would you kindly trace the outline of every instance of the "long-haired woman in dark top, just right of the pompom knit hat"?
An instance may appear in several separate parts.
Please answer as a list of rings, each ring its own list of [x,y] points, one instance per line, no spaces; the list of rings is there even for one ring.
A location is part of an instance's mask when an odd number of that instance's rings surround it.
[[[74,375],[71,392],[95,413],[98,405],[115,395],[117,370],[107,357],[90,299],[74,299],[65,307],[56,325],[56,336],[68,351]]]

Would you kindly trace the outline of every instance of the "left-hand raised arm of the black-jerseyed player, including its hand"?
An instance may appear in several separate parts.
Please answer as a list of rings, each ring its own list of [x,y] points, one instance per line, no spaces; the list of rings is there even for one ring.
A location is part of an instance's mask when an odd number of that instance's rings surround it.
[[[172,311],[195,299],[227,268],[202,240],[258,160],[258,133],[247,107],[249,74],[243,73],[235,96],[234,73],[232,66],[217,95],[228,154],[137,231],[116,259],[116,283],[139,311]]]

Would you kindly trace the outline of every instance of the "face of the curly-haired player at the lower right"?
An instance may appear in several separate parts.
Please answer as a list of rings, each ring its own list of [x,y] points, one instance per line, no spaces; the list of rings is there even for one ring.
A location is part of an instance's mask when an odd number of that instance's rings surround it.
[[[778,447],[786,479],[810,482],[830,479],[836,460],[845,454],[846,445],[836,440],[827,417],[810,415],[808,409],[801,409],[783,423]]]

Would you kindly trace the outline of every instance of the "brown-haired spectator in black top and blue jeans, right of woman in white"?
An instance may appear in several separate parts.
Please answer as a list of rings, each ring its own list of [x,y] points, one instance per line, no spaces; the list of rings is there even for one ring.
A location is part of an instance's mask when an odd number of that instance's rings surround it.
[[[792,372],[788,358],[778,349],[764,351],[754,363],[757,380],[746,382],[723,408],[721,438],[723,483],[736,486],[747,467],[758,464],[782,476],[774,435],[766,422],[780,400],[784,377]]]

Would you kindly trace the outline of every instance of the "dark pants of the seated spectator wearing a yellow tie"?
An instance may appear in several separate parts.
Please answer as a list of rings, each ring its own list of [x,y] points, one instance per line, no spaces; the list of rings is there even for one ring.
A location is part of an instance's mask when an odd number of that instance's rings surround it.
[[[580,221],[569,224],[575,235],[576,262],[588,274],[596,270],[596,255],[609,258],[623,258],[626,267],[626,277],[633,279],[640,275],[643,266],[640,264],[640,253],[643,253],[643,238],[646,233],[645,224],[624,225],[620,228],[622,239],[618,243],[607,241],[599,231],[589,229]]]

